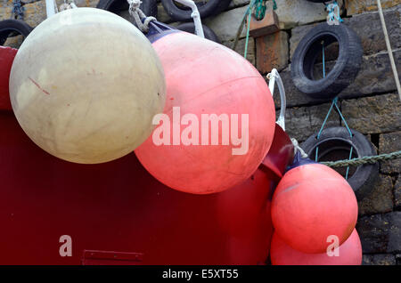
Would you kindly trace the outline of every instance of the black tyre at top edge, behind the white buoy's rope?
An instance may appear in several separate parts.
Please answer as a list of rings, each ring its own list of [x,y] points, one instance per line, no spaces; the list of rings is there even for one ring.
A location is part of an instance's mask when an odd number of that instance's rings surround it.
[[[96,5],[96,8],[118,13],[120,11],[128,10],[129,4],[127,3],[127,0],[100,0]],[[140,9],[146,16],[158,16],[157,0],[142,0]]]

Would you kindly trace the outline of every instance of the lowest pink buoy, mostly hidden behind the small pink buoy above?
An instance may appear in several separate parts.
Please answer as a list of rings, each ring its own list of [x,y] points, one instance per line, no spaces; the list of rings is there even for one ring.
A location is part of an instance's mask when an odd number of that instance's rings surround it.
[[[273,265],[360,265],[362,246],[356,229],[337,249],[329,247],[329,252],[305,254],[284,243],[274,233],[270,246],[270,260]]]

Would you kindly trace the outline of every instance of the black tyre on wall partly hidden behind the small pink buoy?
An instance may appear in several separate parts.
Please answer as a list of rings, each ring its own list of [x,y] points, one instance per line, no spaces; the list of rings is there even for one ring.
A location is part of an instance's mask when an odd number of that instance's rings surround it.
[[[351,130],[353,137],[349,136],[345,127],[329,127],[322,131],[317,140],[317,134],[310,136],[307,141],[301,144],[307,155],[315,160],[315,148],[319,146],[319,156],[324,156],[335,152],[335,150],[349,150],[350,145],[354,148],[353,152],[357,158],[374,156],[377,154],[372,143],[369,142],[362,133]],[[348,183],[354,190],[358,200],[369,195],[372,191],[374,182],[379,175],[379,164],[365,164],[357,166],[355,173],[348,178]]]

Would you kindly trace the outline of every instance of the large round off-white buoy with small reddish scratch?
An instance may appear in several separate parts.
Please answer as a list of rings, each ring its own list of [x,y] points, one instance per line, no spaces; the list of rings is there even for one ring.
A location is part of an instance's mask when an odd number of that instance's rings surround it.
[[[20,46],[12,109],[39,147],[94,164],[135,150],[164,108],[165,79],[151,43],[129,21],[94,8],[59,12]]]

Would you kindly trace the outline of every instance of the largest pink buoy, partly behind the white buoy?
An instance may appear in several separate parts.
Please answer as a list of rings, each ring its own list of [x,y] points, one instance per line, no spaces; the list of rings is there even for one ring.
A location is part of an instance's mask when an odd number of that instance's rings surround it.
[[[159,126],[135,150],[168,187],[194,194],[226,190],[254,173],[273,140],[274,101],[250,62],[184,32],[153,43],[167,84]]]

